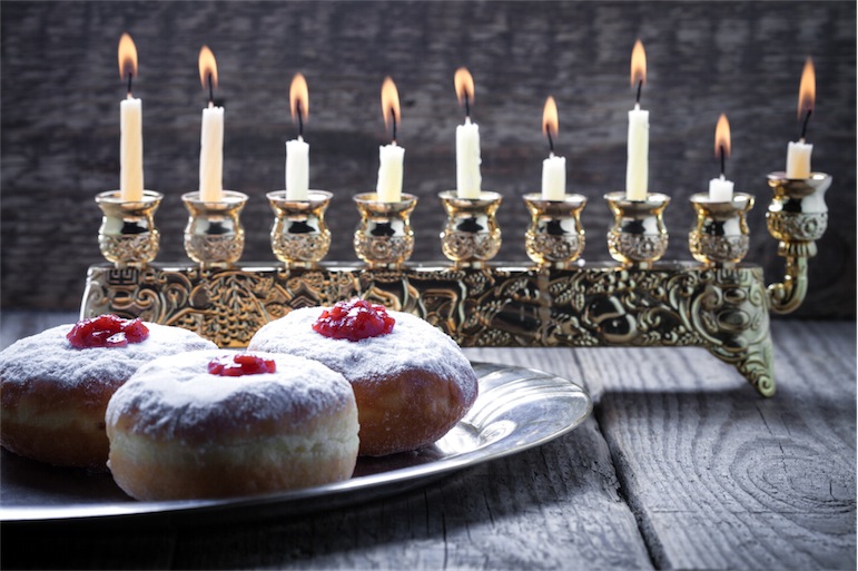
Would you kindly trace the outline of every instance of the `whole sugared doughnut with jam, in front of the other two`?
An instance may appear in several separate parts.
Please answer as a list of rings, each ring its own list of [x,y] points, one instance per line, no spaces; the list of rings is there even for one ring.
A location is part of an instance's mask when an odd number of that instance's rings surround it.
[[[198,351],[152,361],[107,406],[109,467],[138,500],[253,495],[352,476],[348,382],[290,355]]]

